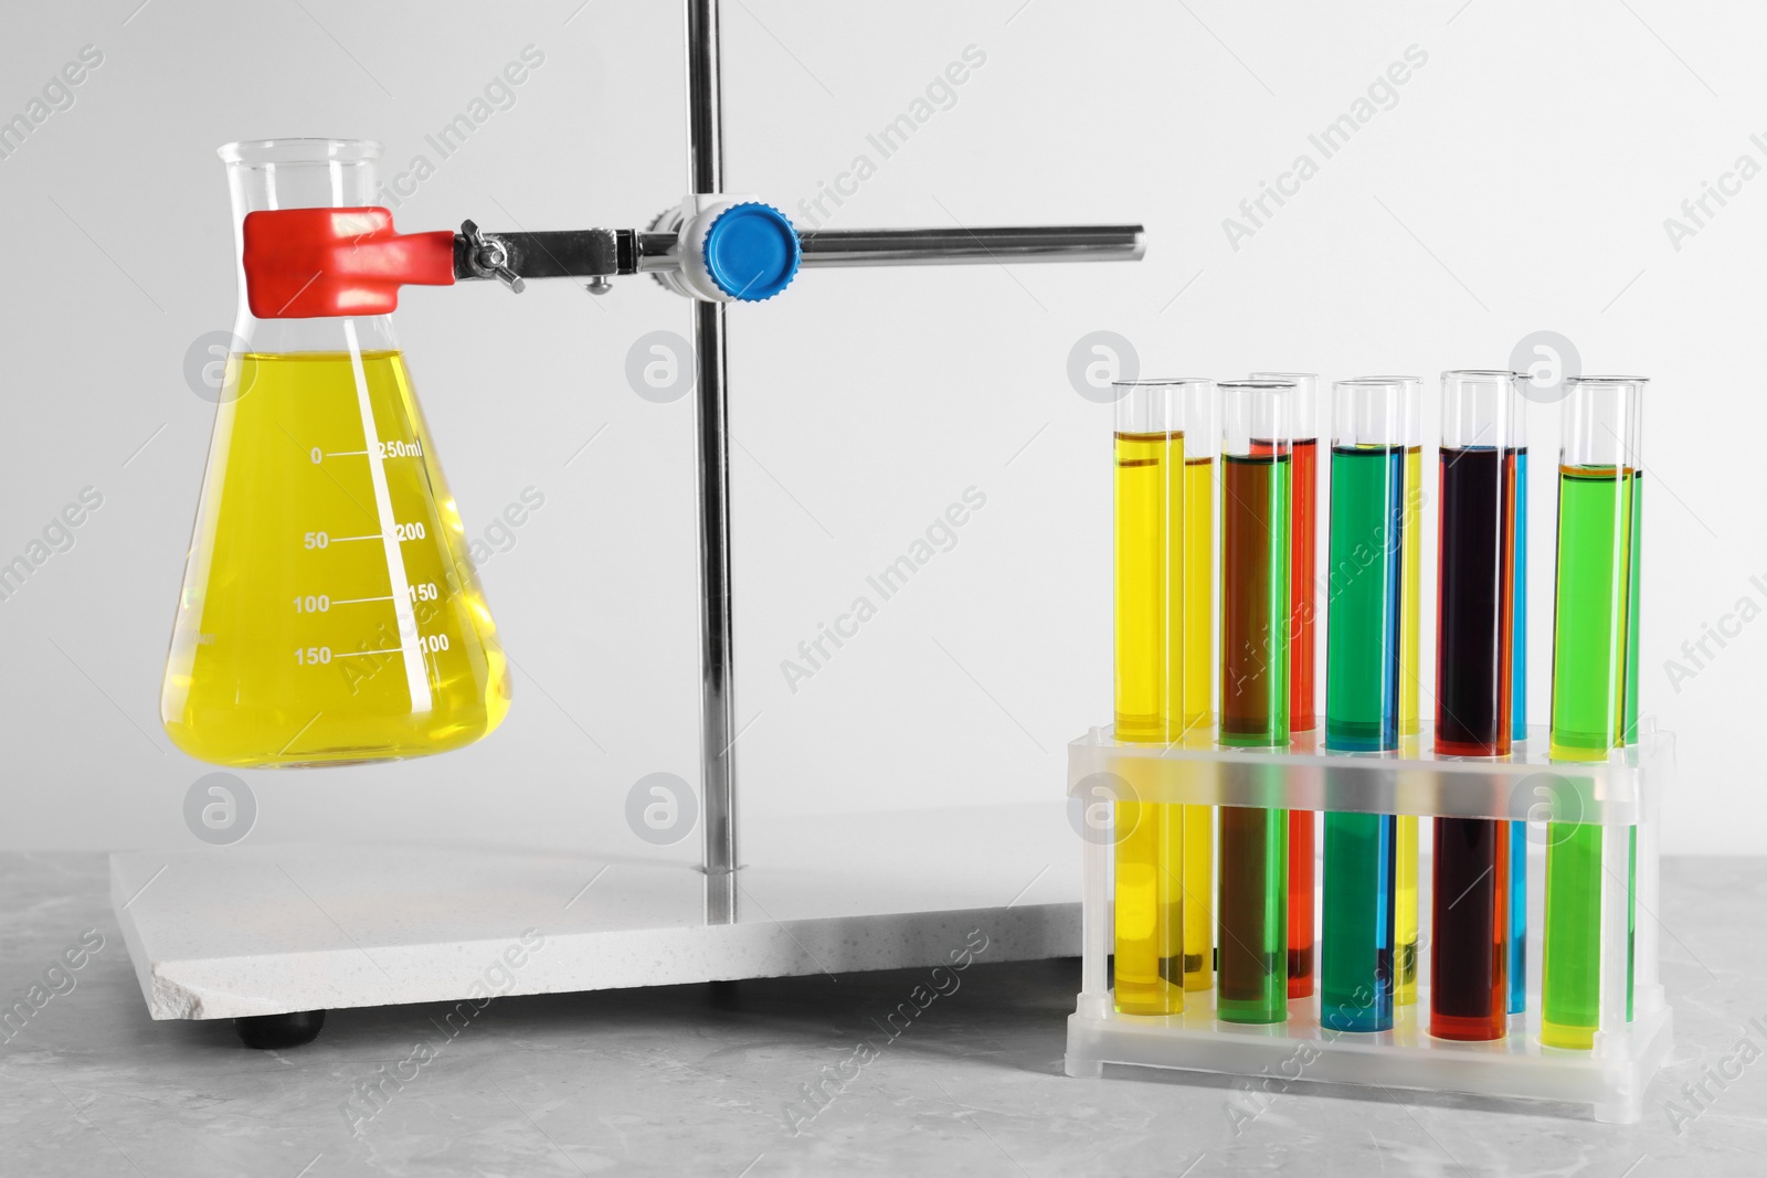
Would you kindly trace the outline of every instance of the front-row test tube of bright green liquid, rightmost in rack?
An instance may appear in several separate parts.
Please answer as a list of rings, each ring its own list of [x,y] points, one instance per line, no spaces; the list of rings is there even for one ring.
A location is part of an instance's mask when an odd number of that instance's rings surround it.
[[[1550,735],[1558,761],[1606,761],[1612,749],[1636,738],[1645,383],[1642,376],[1574,376],[1564,403]],[[1601,827],[1548,823],[1541,968],[1541,1042],[1548,1047],[1594,1046],[1601,876]]]

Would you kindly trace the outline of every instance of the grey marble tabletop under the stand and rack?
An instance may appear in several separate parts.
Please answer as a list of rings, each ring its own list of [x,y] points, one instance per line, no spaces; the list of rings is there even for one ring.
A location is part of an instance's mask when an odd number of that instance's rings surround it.
[[[0,1026],[0,1174],[1763,1174],[1767,860],[1666,860],[1663,885],[1675,1053],[1643,1123],[1608,1127],[1569,1106],[1067,1079],[1078,961],[986,954],[894,1035],[921,971],[502,998],[461,1024],[345,1010],[307,1047],[254,1053],[226,1023],[147,1017],[102,857],[9,853],[0,1008],[44,989]],[[80,968],[51,971],[71,948]]]

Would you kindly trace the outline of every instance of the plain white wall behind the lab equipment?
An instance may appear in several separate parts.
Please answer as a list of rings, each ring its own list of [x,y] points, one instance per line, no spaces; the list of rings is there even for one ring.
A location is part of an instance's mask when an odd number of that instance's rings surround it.
[[[9,5],[0,41],[0,118],[81,46],[104,55],[0,159],[0,563],[81,487],[104,496],[0,602],[12,848],[194,846],[182,800],[209,770],[170,745],[157,701],[214,412],[184,357],[233,316],[217,145],[369,136],[392,171],[436,162],[424,134],[534,44],[516,104],[396,210],[403,230],[641,226],[686,187],[679,4],[136,5]],[[1150,242],[1140,265],[816,272],[732,311],[747,821],[1060,793],[1064,744],[1110,719],[1110,410],[1066,374],[1087,332],[1129,337],[1143,374],[1408,371],[1433,392],[1544,328],[1585,371],[1654,378],[1643,705],[1682,740],[1665,850],[1756,850],[1767,623],[1679,691],[1665,671],[1737,599],[1767,604],[1746,482],[1767,433],[1767,180],[1679,251],[1663,224],[1739,155],[1767,164],[1749,141],[1767,16],[1749,7],[732,0],[732,191],[799,215],[977,46],[956,104],[830,224],[1145,221]],[[1235,251],[1223,217],[1297,154],[1318,161],[1308,134],[1408,46],[1428,64],[1398,102]],[[546,496],[482,567],[516,703],[451,756],[242,774],[253,839],[606,846],[638,777],[694,777],[691,403],[624,376],[656,328],[686,334],[687,307],[648,279],[601,300],[406,291],[398,330],[468,530],[525,487]],[[1536,722],[1557,417],[1530,415]],[[958,546],[790,692],[779,662],[970,486],[988,503]]]

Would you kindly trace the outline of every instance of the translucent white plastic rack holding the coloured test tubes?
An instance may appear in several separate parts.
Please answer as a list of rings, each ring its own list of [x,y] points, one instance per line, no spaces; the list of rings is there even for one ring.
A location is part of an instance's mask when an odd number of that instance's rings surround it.
[[[1597,1121],[1634,1123],[1643,1091],[1672,1042],[1672,1010],[1657,980],[1657,805],[1675,772],[1673,735],[1645,724],[1636,745],[1606,763],[1546,759],[1546,729],[1504,759],[1323,752],[1292,744],[1285,752],[1219,749],[1210,735],[1179,745],[1117,742],[1094,728],[1067,745],[1069,812],[1083,830],[1083,973],[1067,1019],[1066,1070],[1099,1077],[1106,1063],[1246,1076],[1263,1091],[1292,1083],[1456,1091],[1500,1099],[1587,1104]],[[1407,740],[1410,745],[1410,740]],[[1430,749],[1430,733],[1410,747]],[[1214,991],[1191,991],[1182,1014],[1119,1014],[1110,987],[1113,945],[1115,802],[1182,802],[1256,809],[1490,818],[1528,823],[1528,1001],[1493,1042],[1452,1042],[1428,1033],[1430,860],[1419,869],[1417,1001],[1396,1007],[1391,1031],[1334,1031],[1320,1024],[1318,991],[1288,1003],[1288,1021],[1248,1026],[1214,1017]],[[1539,1042],[1544,841],[1551,823],[1603,830],[1601,998],[1594,1049]],[[1631,828],[1638,832],[1629,885]],[[1421,835],[1428,850],[1428,839]],[[1627,888],[1636,904],[1629,933]],[[1210,911],[1217,911],[1212,904]],[[1627,1019],[1627,950],[1633,1017]],[[1270,1084],[1276,1084],[1274,1088]],[[1255,1107],[1246,1109],[1253,1116]]]

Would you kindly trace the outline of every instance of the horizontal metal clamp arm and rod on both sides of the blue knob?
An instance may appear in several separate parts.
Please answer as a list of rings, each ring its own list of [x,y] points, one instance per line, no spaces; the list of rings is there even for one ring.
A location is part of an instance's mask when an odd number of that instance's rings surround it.
[[[611,277],[679,268],[675,235],[634,230],[484,233],[518,277]],[[800,233],[804,267],[935,267],[984,261],[1140,261],[1138,224],[1062,224],[975,230],[818,230]],[[498,277],[465,237],[454,238],[454,277]]]

